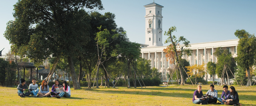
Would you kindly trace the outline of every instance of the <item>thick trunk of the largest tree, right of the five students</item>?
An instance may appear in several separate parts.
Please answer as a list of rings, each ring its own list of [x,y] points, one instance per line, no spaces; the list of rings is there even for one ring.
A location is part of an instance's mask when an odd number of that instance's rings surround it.
[[[78,89],[81,89],[80,88],[80,84],[77,82],[77,76],[76,76],[76,73],[75,73],[75,68],[74,68],[74,64],[73,64],[73,59],[72,57],[68,56],[68,65],[69,65],[69,69],[70,69],[70,73],[71,73],[71,77],[72,77],[72,80],[73,80],[73,87],[74,87],[74,90],[78,90]],[[70,79],[69,79],[70,80]]]

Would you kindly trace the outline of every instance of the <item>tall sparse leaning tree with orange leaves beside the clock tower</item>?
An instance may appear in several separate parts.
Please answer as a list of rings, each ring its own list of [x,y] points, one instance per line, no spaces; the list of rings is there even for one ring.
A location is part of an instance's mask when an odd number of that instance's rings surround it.
[[[175,35],[172,35],[172,33],[176,30],[176,27],[171,27],[169,30],[165,33],[164,35],[168,36],[167,40],[164,43],[171,43],[166,49],[163,51],[166,52],[166,57],[169,60],[175,60],[177,64],[180,64],[180,59],[181,56],[183,55],[191,55],[192,50],[189,49],[191,45],[189,44],[190,42],[183,36],[180,36],[179,39],[176,38]],[[180,45],[180,42],[183,43],[183,45]],[[185,49],[186,47],[187,49]],[[173,62],[170,62],[172,64]],[[179,71],[180,71],[180,76],[181,76],[181,85],[184,85],[185,80],[183,76],[183,71],[181,70],[181,65],[178,65]]]

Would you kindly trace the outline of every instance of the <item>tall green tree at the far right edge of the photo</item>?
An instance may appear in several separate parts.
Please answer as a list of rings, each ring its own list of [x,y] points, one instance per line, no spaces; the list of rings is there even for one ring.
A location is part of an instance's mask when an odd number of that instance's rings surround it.
[[[236,30],[235,36],[239,38],[237,45],[237,65],[246,69],[248,77],[246,86],[251,86],[250,68],[256,63],[256,37],[244,29]]]

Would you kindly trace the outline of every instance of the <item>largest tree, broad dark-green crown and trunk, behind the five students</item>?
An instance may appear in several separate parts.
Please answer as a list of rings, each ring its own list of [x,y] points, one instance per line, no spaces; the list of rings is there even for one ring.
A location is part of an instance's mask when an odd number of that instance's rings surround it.
[[[37,65],[49,56],[68,59],[74,89],[80,89],[73,58],[90,40],[89,16],[83,8],[103,9],[100,0],[20,0],[14,5],[15,21],[7,23],[5,37],[12,50]]]

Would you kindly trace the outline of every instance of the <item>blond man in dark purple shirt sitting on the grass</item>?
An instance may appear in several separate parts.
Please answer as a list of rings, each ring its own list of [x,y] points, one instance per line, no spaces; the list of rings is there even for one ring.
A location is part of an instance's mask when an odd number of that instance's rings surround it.
[[[198,85],[197,86],[197,90],[195,90],[194,94],[193,94],[193,104],[207,104],[207,101],[209,101],[208,98],[204,98],[203,96],[203,92],[202,90],[202,86]],[[204,99],[202,99],[204,98]]]

